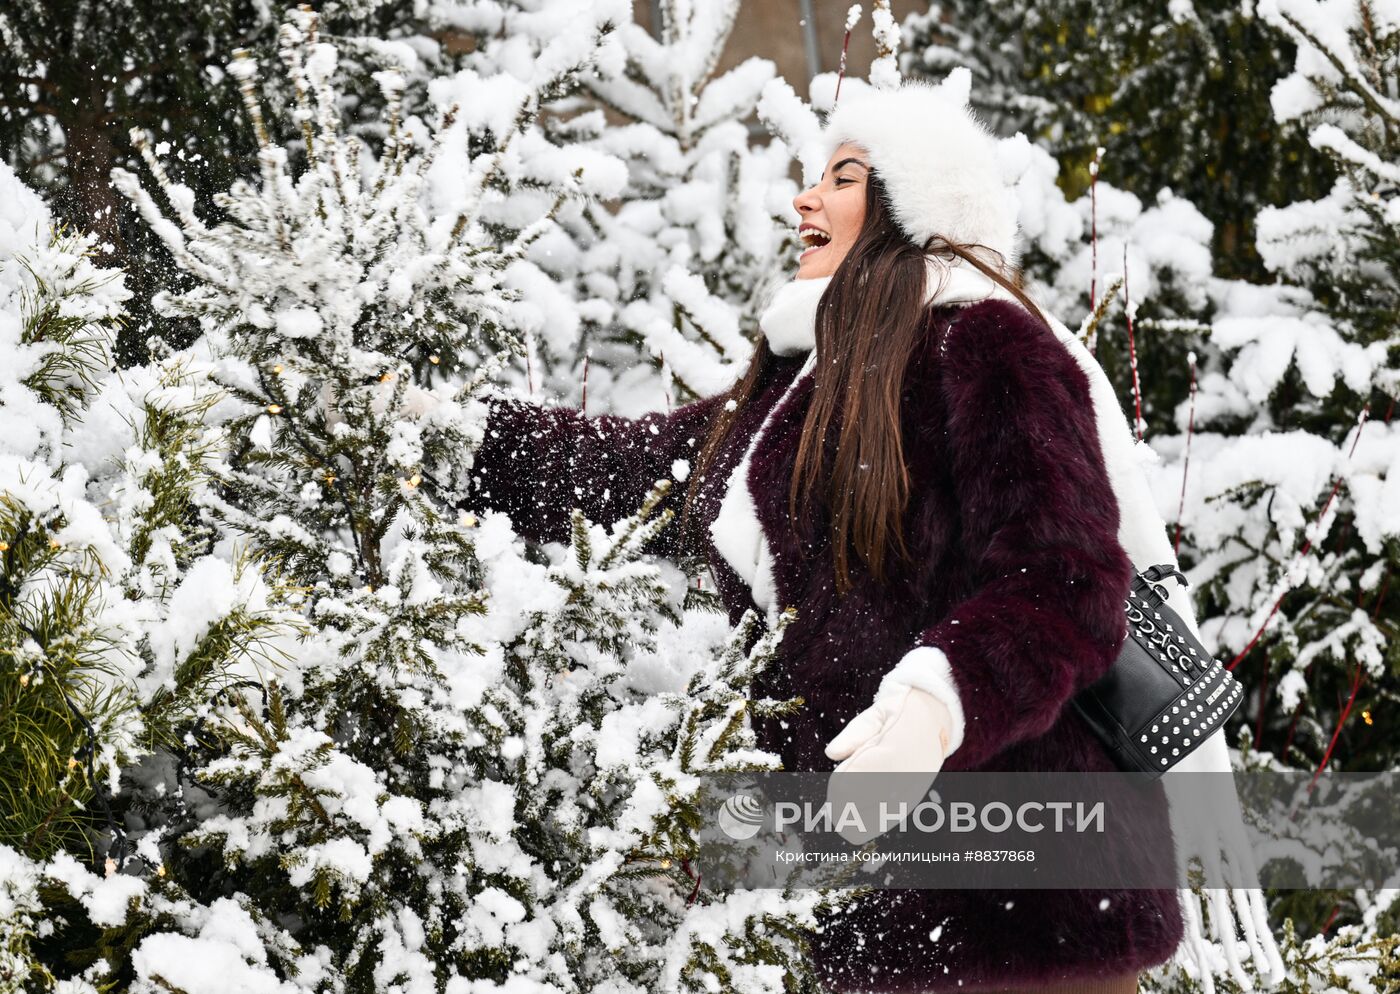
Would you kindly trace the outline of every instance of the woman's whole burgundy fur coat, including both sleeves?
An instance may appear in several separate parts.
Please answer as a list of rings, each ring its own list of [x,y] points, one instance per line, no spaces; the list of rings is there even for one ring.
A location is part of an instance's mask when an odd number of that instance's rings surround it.
[[[903,391],[913,484],[904,535],[916,566],[879,587],[851,557],[855,587],[839,599],[822,505],[804,531],[790,526],[788,480],[812,374],[755,449],[749,489],[777,603],[798,608],[757,690],[806,700],[787,728],[756,721],[759,742],[787,770],[834,769],[826,742],[872,703],[907,651],[932,645],[952,665],[966,721],[942,769],[1113,770],[1067,704],[1117,657],[1133,575],[1088,379],[1018,304],[927,315]],[[699,521],[687,535],[673,522],[652,549],[703,553],[731,620],[755,603],[708,524],[724,482],[802,364],[804,356],[773,357],[701,484]],[[522,535],[567,540],[570,508],[616,521],[654,480],[673,479],[673,462],[694,459],[717,406],[707,398],[669,414],[584,419],[493,399],[473,503],[508,512]],[[834,431],[827,444],[834,448]],[[678,522],[683,489],[666,503]],[[920,994],[1134,972],[1169,959],[1182,935],[1173,889],[878,890],[813,935],[812,953],[834,991]]]

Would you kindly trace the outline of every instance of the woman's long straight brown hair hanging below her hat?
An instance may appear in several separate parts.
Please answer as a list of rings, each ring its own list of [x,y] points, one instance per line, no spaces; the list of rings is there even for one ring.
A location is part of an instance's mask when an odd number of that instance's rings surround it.
[[[998,262],[988,265],[977,256],[977,249]],[[895,223],[878,172],[867,172],[865,220],[816,308],[816,354],[822,361],[816,365],[812,403],[802,423],[788,489],[791,524],[798,521],[798,496],[825,484],[839,596],[846,596],[853,585],[848,570],[853,545],[878,582],[886,578],[890,550],[903,560],[910,557],[903,535],[909,470],[900,433],[900,392],[906,367],[924,333],[925,255],[965,260],[1043,321],[1021,288],[1019,269],[1004,265],[994,249],[937,235],[923,246],[911,242]],[[699,465],[686,487],[682,529],[689,526],[700,483],[771,360],[773,351],[760,335],[748,370],[725,395],[734,403],[720,406],[700,447]],[[854,416],[844,417],[843,412]],[[840,434],[836,458],[825,473],[825,442],[833,419],[840,421]],[[809,507],[804,500],[801,512],[808,514]]]

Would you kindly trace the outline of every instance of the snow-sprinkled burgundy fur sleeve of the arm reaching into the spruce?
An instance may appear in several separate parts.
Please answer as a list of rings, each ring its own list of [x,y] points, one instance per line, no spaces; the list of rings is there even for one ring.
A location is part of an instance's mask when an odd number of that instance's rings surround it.
[[[612,524],[634,514],[652,484],[668,479],[671,493],[655,514],[669,508],[678,517],[644,552],[675,556],[683,546],[683,480],[721,400],[717,395],[641,417],[587,417],[575,407],[491,396],[486,435],[473,455],[469,503],[504,511],[525,538],[567,542],[573,508],[589,521]]]

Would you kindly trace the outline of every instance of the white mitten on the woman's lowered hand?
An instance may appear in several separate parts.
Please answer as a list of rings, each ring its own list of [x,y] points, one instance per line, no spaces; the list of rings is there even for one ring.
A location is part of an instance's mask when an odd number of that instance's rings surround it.
[[[948,756],[952,724],[938,697],[902,686],[876,696],[826,743],[827,759],[844,760],[826,781],[826,802],[846,841],[864,846],[895,827],[882,823],[882,811],[913,808],[924,799]],[[854,773],[890,776],[848,776]],[[860,825],[847,820],[846,812],[855,812]]]

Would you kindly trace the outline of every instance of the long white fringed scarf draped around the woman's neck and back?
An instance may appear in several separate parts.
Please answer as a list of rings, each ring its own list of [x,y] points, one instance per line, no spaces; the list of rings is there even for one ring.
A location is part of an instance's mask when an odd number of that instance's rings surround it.
[[[956,304],[967,305],[988,297],[1015,300],[1004,287],[987,279],[976,267],[962,262],[945,265],[937,259],[928,260],[928,287],[925,300],[939,305]],[[774,603],[774,582],[771,568],[771,553],[763,529],[759,526],[753,508],[753,500],[748,487],[749,459],[757,445],[759,438],[767,428],[773,413],[781,407],[791,396],[798,381],[815,365],[816,343],[816,305],[826,291],[830,277],[816,280],[791,280],[783,284],[773,300],[764,308],[759,325],[771,349],[778,356],[795,356],[808,353],[806,363],[792,378],[787,392],[773,406],[763,424],[755,433],[748,451],[729,475],[728,487],[720,507],[720,515],[710,526],[715,547],[729,561],[749,584],[755,602],[767,612],[769,623],[777,620],[777,605]],[[1037,305],[1039,307],[1039,305]],[[1119,540],[1128,553],[1134,568],[1145,570],[1156,563],[1176,564],[1176,554],[1166,536],[1166,524],[1152,493],[1148,489],[1147,476],[1142,472],[1145,462],[1152,462],[1158,456],[1145,444],[1138,442],[1133,428],[1119,406],[1117,395],[1109,382],[1103,367],[1089,354],[1089,350],[1054,315],[1040,308],[1040,314],[1054,329],[1056,337],[1074,356],[1075,361],[1089,378],[1089,389],[1093,400],[1095,420],[1099,428],[1099,445],[1103,452],[1103,462],[1119,501],[1120,528]],[[1196,623],[1196,613],[1190,596],[1179,582],[1168,582],[1168,602],[1190,626],[1191,631],[1200,637]],[[1191,752],[1182,763],[1173,767],[1172,773],[1229,773],[1232,770],[1229,752],[1225,743],[1225,732],[1217,731]],[[1173,777],[1163,778],[1168,799],[1172,798]],[[1229,791],[1229,801],[1238,801],[1233,791]],[[1246,879],[1256,878],[1253,857],[1245,836],[1243,818],[1239,815],[1238,804],[1233,805],[1233,818],[1226,825],[1221,820],[1218,832],[1211,826],[1203,826],[1201,819],[1177,818],[1172,822],[1173,836],[1177,843],[1177,860],[1189,860],[1198,855],[1207,867],[1219,865],[1222,857],[1233,867],[1239,868]],[[1217,879],[1219,879],[1217,876]],[[1259,888],[1205,888],[1203,889],[1205,902],[1210,904],[1212,941],[1219,942],[1224,951],[1225,966],[1229,976],[1245,990],[1252,988],[1247,974],[1243,972],[1242,960],[1236,945],[1236,928],[1245,935],[1247,958],[1253,960],[1256,970],[1266,983],[1277,984],[1285,976],[1282,958],[1278,953],[1273,931],[1268,927],[1268,911],[1264,895]],[[1189,958],[1194,962],[1196,976],[1200,977],[1204,994],[1214,994],[1214,960],[1219,955],[1208,948],[1204,935],[1201,899],[1196,892],[1183,888],[1180,890],[1182,909],[1186,917],[1186,937],[1182,949],[1177,949],[1176,959]],[[1233,900],[1235,907],[1231,907]],[[1183,952],[1184,949],[1184,952]]]

